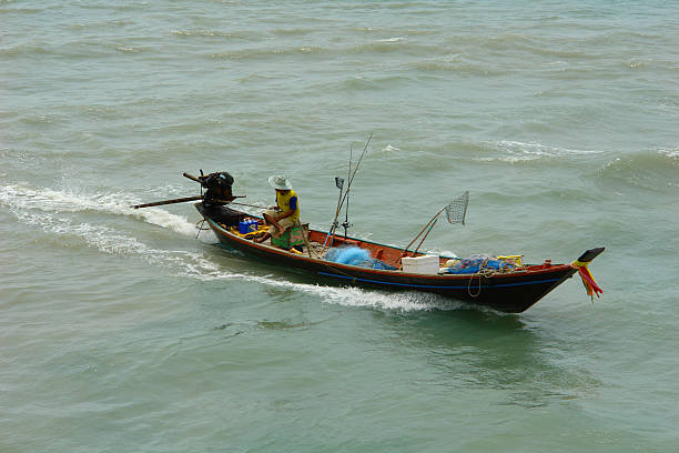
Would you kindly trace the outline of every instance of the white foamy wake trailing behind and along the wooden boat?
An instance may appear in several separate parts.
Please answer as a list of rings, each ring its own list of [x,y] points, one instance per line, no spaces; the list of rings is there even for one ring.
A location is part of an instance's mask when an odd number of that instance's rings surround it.
[[[95,218],[100,222],[94,222],[92,217],[87,215],[89,213],[124,215],[195,238],[195,225],[186,218],[159,208],[134,210],[129,208],[133,202],[135,200],[132,200],[132,197],[122,193],[85,194],[51,189],[39,190],[20,184],[0,185],[0,205],[7,207],[19,222],[62,239],[59,241],[60,246],[87,246],[108,254],[139,258],[155,268],[166,269],[171,273],[190,279],[237,280],[290,289],[317,296],[325,303],[344,306],[367,306],[399,312],[468,308],[466,304],[435,294],[384,293],[357,288],[323,286],[290,282],[274,275],[232,272],[225,269],[223,263],[211,260],[210,255],[203,252],[153,248],[138,239],[138,234],[125,230],[124,224],[107,222],[103,218]],[[112,223],[115,225],[110,226]],[[63,238],[71,240],[64,241]],[[203,232],[200,238],[204,243],[216,242],[212,232]]]

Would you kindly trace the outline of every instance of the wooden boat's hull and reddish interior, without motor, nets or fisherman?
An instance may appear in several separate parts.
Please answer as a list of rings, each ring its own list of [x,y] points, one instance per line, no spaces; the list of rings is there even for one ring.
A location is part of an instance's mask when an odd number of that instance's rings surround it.
[[[404,258],[424,258],[425,253],[413,253],[406,249],[358,238],[344,238],[338,234],[328,236],[328,232],[306,229],[303,229],[305,246],[302,251],[294,248],[286,250],[272,244],[271,241],[256,243],[246,234],[240,233],[235,224],[240,224],[242,219],[251,218],[246,212],[227,208],[206,209],[203,203],[196,203],[195,208],[224,248],[278,264],[281,269],[302,271],[315,278],[318,283],[388,291],[423,291],[506,313],[526,311],[604,251],[604,248],[586,251],[576,260],[579,265],[553,264],[547,260],[540,264],[520,264],[497,272],[454,274],[444,271],[425,274],[408,272],[402,265]],[[324,243],[332,243],[332,246],[324,246]],[[335,248],[366,250],[371,256],[385,263],[385,268],[393,269],[374,269],[326,260],[324,256]],[[437,271],[447,269],[447,263],[455,260],[454,256],[436,259]]]

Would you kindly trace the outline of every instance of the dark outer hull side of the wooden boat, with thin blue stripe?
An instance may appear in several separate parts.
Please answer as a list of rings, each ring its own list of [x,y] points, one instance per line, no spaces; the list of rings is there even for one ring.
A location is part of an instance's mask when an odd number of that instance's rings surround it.
[[[489,306],[506,313],[520,313],[577,272],[577,269],[569,264],[550,264],[548,262],[529,265],[519,272],[443,275],[415,274],[340,264],[243,239],[220,225],[205,213],[201,203],[196,203],[196,209],[207,221],[223,246],[267,263],[277,264],[282,269],[302,271],[320,283],[389,291],[423,291],[472,304]],[[326,233],[310,231],[310,235],[313,236],[314,234],[318,239],[324,238]],[[341,240],[337,238],[337,241]],[[381,248],[379,250],[386,251],[386,256],[392,256],[392,259],[396,255],[401,256],[401,253],[403,253],[403,249],[358,239],[352,239],[351,242],[362,248],[372,249],[372,252]],[[382,252],[377,251],[377,254],[382,254]]]

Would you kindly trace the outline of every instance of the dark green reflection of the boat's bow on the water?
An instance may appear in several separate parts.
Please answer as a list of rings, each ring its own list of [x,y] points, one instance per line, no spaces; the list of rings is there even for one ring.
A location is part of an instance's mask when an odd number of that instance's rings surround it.
[[[577,344],[550,338],[518,315],[464,306],[375,316],[396,333],[396,344],[385,348],[424,359],[427,384],[501,390],[501,404],[525,407],[578,399],[601,384],[588,370],[564,360]]]

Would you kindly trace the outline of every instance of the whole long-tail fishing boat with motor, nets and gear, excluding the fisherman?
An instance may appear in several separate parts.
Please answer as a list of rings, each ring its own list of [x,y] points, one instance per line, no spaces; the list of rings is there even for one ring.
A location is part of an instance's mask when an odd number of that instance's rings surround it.
[[[346,230],[344,235],[337,234],[337,217],[330,231],[297,224],[281,238],[271,238],[260,243],[254,239],[267,231],[268,226],[261,217],[234,209],[235,204],[242,203],[234,202],[237,197],[231,193],[233,179],[227,173],[197,178],[188,173],[184,175],[201,182],[202,187],[207,188],[207,192],[199,197],[140,204],[134,208],[199,201],[194,204],[195,208],[222,246],[276,264],[284,272],[303,272],[320,284],[435,293],[506,313],[526,311],[576,273],[580,274],[592,300],[595,294],[599,296],[602,292],[587,266],[605,248],[587,250],[574,262],[560,264],[550,260],[527,264],[523,263],[520,255],[459,259],[419,252],[426,234],[432,231],[444,211],[450,223],[464,223],[468,192],[432,218],[416,236],[418,239],[426,232],[414,250],[411,244],[415,241],[405,248],[398,248],[348,236]],[[336,184],[338,188],[342,185],[338,180]],[[338,201],[337,213],[341,205]],[[450,212],[455,211],[455,208],[457,215]],[[345,229],[347,223],[344,224]],[[346,259],[346,255],[352,253],[359,259]]]

